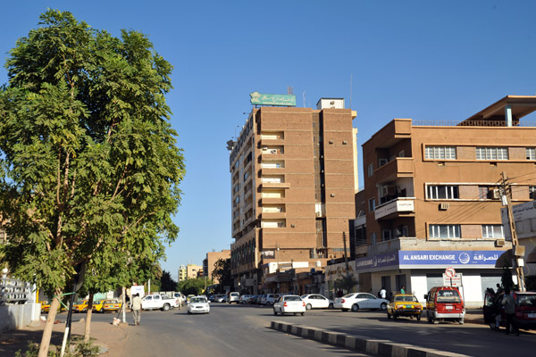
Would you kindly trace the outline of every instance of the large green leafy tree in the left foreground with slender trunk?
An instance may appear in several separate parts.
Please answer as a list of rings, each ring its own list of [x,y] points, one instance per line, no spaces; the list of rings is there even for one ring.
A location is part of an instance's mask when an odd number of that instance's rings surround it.
[[[53,10],[40,20],[10,51],[0,88],[0,256],[48,295],[63,295],[79,264],[87,291],[147,281],[179,231],[172,66],[137,31],[112,37]]]

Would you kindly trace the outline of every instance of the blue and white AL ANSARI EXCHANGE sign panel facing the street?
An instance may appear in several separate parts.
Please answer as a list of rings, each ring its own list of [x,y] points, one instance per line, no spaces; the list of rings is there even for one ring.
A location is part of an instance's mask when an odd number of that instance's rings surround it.
[[[495,265],[502,251],[400,251],[400,265]]]

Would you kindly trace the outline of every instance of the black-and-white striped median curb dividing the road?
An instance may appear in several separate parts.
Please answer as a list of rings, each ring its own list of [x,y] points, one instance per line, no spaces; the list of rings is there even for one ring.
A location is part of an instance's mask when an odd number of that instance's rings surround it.
[[[271,321],[270,328],[289,335],[308,338],[322,344],[337,345],[348,350],[383,357],[467,357],[466,354],[450,353],[415,345],[397,344],[389,340],[373,339],[365,336],[349,336],[340,332],[294,325],[283,321]]]

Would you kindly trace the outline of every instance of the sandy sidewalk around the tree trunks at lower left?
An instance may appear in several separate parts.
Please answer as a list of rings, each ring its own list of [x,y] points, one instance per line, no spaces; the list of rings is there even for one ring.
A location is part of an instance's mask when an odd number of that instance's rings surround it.
[[[54,324],[50,351],[54,351],[54,345],[58,347],[58,350],[62,347],[65,316],[60,316],[62,322]],[[73,336],[83,338],[85,327],[86,322],[83,317],[73,319],[71,338]],[[17,351],[24,353],[28,349],[29,342],[39,344],[43,336],[43,328],[45,328],[45,321],[38,321],[27,328],[0,333],[0,356],[11,357]],[[122,346],[127,342],[128,330],[129,326],[124,324],[114,326],[111,322],[91,321],[91,340],[93,345],[101,347],[101,355],[116,356],[120,354]]]

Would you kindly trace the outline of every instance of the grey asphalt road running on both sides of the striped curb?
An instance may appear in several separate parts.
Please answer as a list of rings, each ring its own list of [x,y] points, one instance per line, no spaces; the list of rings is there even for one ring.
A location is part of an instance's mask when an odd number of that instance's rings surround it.
[[[111,314],[93,315],[111,320]],[[132,322],[131,314],[127,320]],[[347,350],[289,336],[269,329],[270,321],[282,320],[326,328],[354,336],[418,345],[472,356],[532,355],[536,335],[505,336],[472,323],[428,324],[400,318],[388,320],[384,311],[307,311],[306,316],[273,316],[272,308],[257,305],[212,303],[207,315],[182,311],[144,311],[139,327],[131,326],[123,356],[325,356],[356,355]]]

